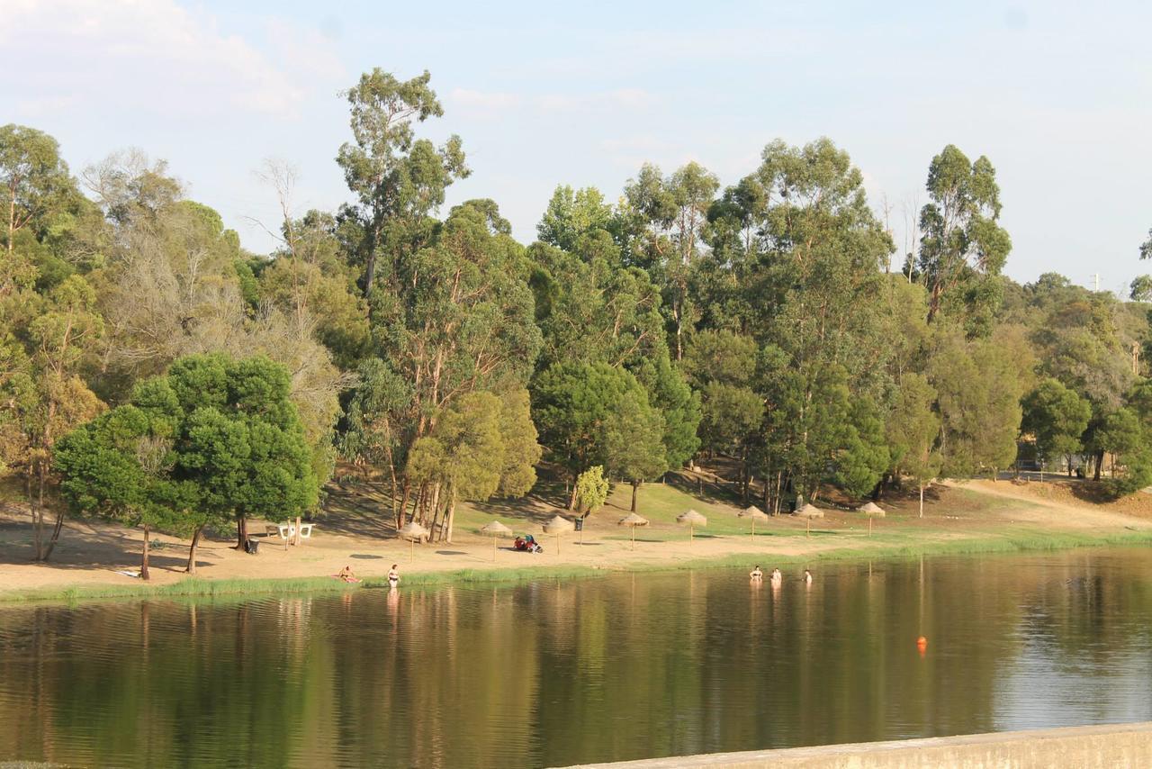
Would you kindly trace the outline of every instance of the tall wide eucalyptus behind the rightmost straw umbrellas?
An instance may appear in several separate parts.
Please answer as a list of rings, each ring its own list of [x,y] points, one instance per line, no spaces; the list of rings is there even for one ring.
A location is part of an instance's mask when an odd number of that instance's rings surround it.
[[[836,472],[836,457],[874,454],[882,437],[871,420],[854,423],[850,401],[879,402],[889,346],[876,299],[893,246],[867,205],[861,172],[831,141],[778,141],[761,157],[756,179],[767,208],[757,214],[748,295],[760,347],[753,387],[766,404],[758,463],[778,510],[782,489],[811,496]]]

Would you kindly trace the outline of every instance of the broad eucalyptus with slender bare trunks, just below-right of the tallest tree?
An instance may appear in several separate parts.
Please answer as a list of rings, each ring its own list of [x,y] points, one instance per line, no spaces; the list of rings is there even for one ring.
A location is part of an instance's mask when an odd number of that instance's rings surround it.
[[[401,511],[412,491],[404,458],[445,408],[473,391],[522,386],[535,369],[540,331],[531,267],[509,232],[494,203],[468,201],[373,292],[373,352],[409,389],[402,408],[388,408]]]

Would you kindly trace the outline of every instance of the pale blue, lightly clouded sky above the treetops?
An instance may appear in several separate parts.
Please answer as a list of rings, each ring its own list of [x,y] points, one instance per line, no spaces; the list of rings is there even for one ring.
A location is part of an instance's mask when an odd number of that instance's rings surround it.
[[[351,198],[341,91],[380,67],[432,73],[445,116],[418,130],[462,136],[473,172],[448,205],[491,197],[523,242],[558,184],[615,199],[641,164],[689,160],[729,184],[774,138],[828,136],[897,248],[950,143],[996,168],[1014,279],[1152,272],[1147,2],[0,0],[0,120],[74,172],[167,160],[258,252],[279,219],[264,159],[296,168],[297,213]]]

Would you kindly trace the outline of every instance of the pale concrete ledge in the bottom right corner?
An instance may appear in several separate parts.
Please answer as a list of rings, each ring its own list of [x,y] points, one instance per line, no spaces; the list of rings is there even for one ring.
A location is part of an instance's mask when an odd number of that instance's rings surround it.
[[[579,769],[1049,769],[1152,767],[1152,722],[581,764]],[[571,768],[576,769],[576,768]]]

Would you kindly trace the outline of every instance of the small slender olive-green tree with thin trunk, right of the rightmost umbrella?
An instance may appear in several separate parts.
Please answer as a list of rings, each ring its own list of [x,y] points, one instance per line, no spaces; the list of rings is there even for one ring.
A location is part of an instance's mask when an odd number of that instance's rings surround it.
[[[920,492],[924,518],[924,487],[940,473],[937,451],[940,417],[933,410],[937,392],[923,374],[904,375],[896,390],[896,401],[888,414],[887,436],[895,472],[907,475]]]

